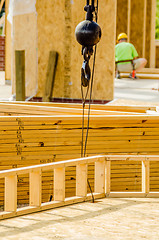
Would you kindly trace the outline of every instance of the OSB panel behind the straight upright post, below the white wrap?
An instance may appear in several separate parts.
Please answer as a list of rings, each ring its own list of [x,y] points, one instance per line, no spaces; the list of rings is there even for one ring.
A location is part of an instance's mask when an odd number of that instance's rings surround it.
[[[26,96],[37,90],[37,16],[36,13],[13,17],[13,93],[15,93],[15,51],[25,50]]]

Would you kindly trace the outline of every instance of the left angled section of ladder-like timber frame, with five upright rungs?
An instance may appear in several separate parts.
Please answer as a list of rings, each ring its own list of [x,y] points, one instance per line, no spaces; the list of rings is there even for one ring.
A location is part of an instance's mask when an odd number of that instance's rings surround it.
[[[0,178],[5,179],[4,211],[0,213],[0,220],[91,200],[91,194],[87,194],[87,167],[91,163],[95,163],[94,198],[105,197],[104,156],[0,171]],[[70,166],[76,166],[76,196],[65,198],[65,168]],[[54,201],[42,203],[41,175],[47,170],[54,171]],[[29,206],[17,208],[17,176],[22,174],[29,174]]]

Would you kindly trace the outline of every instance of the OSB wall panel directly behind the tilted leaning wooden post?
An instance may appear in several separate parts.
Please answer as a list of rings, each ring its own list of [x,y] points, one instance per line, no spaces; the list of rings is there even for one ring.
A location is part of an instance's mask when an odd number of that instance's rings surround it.
[[[59,53],[56,71],[54,97],[63,97],[64,91],[64,0],[38,0],[38,93],[43,94],[49,52]]]

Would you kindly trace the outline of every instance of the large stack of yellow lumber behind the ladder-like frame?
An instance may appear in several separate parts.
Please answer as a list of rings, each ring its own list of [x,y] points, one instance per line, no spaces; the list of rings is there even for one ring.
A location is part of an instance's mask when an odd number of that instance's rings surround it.
[[[84,137],[87,130],[86,105]],[[159,154],[159,116],[156,107],[92,105],[86,156],[99,154]],[[82,105],[60,103],[0,103],[0,169],[79,158]],[[75,192],[74,167],[66,169],[66,196]],[[88,168],[92,189],[94,166]],[[18,177],[18,203],[29,199],[28,175]],[[151,189],[159,190],[159,164],[151,162]],[[23,190],[28,189],[24,194]],[[43,172],[42,197],[53,189],[53,173]],[[141,191],[141,162],[113,161],[111,191]],[[0,180],[0,205],[4,182]]]

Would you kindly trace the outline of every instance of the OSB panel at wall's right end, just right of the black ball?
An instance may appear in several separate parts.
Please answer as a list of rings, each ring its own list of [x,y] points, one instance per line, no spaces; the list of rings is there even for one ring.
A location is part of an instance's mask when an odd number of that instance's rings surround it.
[[[99,1],[98,22],[102,38],[97,47],[93,98],[111,100],[115,72],[116,0]]]

